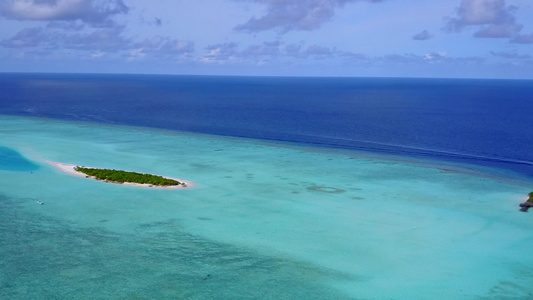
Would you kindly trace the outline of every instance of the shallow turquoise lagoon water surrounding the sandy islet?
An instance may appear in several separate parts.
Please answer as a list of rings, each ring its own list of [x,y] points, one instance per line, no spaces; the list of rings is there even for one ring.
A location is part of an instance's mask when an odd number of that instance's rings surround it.
[[[0,128],[2,153],[37,166],[0,160],[2,299],[533,297],[527,179],[133,127]],[[113,185],[46,160],[197,185]]]

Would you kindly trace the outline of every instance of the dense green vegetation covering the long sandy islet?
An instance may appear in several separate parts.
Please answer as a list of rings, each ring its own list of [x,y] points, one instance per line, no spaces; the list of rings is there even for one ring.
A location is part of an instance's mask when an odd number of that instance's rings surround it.
[[[182,185],[186,186],[185,182],[179,182],[174,179],[165,178],[162,176],[143,174],[136,172],[127,172],[122,170],[111,169],[97,169],[97,168],[85,168],[77,166],[76,171],[82,172],[88,176],[92,176],[98,180],[106,180],[116,183],[139,183],[150,184],[157,186],[173,186]]]

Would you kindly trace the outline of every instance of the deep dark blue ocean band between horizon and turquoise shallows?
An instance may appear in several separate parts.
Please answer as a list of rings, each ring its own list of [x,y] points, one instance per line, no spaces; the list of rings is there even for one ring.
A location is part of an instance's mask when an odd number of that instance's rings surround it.
[[[533,81],[0,74],[0,114],[249,137],[533,176]]]

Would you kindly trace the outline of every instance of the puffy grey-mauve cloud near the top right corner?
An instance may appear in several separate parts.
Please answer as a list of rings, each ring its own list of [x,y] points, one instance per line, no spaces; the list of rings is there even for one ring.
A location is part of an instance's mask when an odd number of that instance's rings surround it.
[[[516,23],[516,6],[506,6],[505,0],[462,0],[457,17],[449,18],[445,30],[460,32],[476,26],[478,38],[511,38],[522,30]]]

